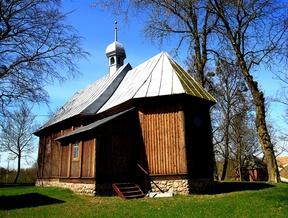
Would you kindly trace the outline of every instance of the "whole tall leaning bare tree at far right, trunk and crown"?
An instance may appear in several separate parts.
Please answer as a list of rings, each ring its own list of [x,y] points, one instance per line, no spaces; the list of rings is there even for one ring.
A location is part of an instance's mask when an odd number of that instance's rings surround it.
[[[269,181],[279,182],[279,171],[267,128],[264,93],[251,73],[255,66],[273,60],[273,53],[286,45],[288,29],[283,20],[287,16],[284,6],[269,0],[209,2],[221,21],[221,28],[217,30],[223,40],[230,42],[253,97],[256,128],[267,163]]]

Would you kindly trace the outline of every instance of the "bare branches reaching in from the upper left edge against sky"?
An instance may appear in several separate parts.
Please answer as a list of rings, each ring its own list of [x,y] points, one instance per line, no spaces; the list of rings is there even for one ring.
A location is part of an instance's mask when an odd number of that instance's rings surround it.
[[[46,102],[47,83],[78,72],[76,61],[86,53],[60,2],[0,0],[0,109],[20,100]]]

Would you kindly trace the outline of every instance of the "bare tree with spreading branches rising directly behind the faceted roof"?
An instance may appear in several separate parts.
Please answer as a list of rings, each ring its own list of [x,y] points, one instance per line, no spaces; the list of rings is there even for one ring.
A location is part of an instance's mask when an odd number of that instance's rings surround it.
[[[217,25],[217,17],[211,13],[208,1],[188,0],[124,0],[97,1],[106,8],[114,9],[116,13],[129,15],[129,9],[136,9],[146,20],[144,30],[147,37],[162,42],[173,36],[177,38],[175,52],[185,46],[189,50],[192,64],[191,73],[204,87],[206,84],[206,67],[212,48],[220,44],[209,43],[213,28]],[[100,4],[98,3],[98,4]],[[96,2],[95,2],[95,5]],[[211,46],[209,48],[208,46]]]

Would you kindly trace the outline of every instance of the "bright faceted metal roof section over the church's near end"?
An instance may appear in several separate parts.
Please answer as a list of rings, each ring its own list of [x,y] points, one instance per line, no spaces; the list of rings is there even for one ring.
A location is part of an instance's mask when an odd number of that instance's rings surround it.
[[[115,93],[98,113],[133,98],[188,94],[215,102],[166,52],[162,52],[130,70]]]

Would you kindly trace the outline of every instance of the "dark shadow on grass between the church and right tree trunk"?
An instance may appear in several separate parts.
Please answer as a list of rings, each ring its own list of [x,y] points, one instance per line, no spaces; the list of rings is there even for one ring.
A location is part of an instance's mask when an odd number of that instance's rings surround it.
[[[204,189],[192,191],[194,194],[224,194],[229,192],[261,190],[274,185],[265,182],[214,182]]]

